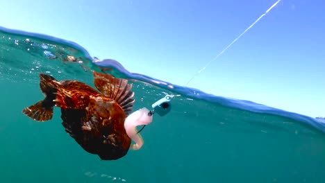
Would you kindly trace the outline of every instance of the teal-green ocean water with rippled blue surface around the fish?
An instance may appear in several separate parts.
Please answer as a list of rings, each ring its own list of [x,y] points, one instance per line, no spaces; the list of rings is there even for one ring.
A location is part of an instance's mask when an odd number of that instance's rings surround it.
[[[22,114],[43,98],[39,73],[92,85],[90,70],[133,82],[134,110],[175,95],[141,150],[102,161],[69,137],[58,109],[44,123]],[[129,73],[73,42],[0,27],[0,85],[0,182],[325,182],[324,121]]]

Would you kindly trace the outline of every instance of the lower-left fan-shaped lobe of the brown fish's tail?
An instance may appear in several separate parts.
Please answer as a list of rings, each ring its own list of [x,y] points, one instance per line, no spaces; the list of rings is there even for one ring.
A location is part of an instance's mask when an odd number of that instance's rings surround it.
[[[53,116],[53,107],[43,107],[43,101],[26,107],[22,112],[35,121],[49,121]]]

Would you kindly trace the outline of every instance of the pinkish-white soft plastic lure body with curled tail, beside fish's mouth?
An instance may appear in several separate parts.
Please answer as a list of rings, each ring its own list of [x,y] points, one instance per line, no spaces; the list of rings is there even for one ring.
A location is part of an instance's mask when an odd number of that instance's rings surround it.
[[[143,107],[140,110],[133,112],[128,115],[128,117],[124,121],[124,128],[126,130],[126,134],[130,137],[135,144],[131,144],[130,149],[139,150],[143,145],[143,139],[141,134],[138,133],[137,126],[138,125],[148,125],[152,121],[152,115],[149,116],[149,110],[146,107]]]

